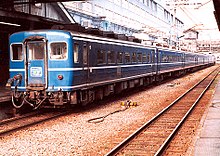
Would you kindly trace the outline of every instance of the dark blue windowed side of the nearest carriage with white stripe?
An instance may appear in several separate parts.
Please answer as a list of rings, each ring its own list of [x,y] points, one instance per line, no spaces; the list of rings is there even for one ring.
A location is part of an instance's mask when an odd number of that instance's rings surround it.
[[[79,62],[74,64],[74,85],[99,85],[156,72],[154,49],[112,44],[105,40],[73,37]],[[75,48],[74,48],[75,51]],[[86,84],[86,85],[85,85]]]

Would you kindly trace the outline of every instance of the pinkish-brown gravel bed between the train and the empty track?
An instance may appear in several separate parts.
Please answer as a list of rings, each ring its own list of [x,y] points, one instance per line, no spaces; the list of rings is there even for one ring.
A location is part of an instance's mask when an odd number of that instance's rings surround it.
[[[114,142],[114,136],[132,125],[148,121],[214,68],[2,137],[0,155],[104,155],[111,148],[108,142]],[[121,101],[127,100],[137,102],[138,106],[112,114],[100,123],[88,122],[91,118],[122,109]]]

